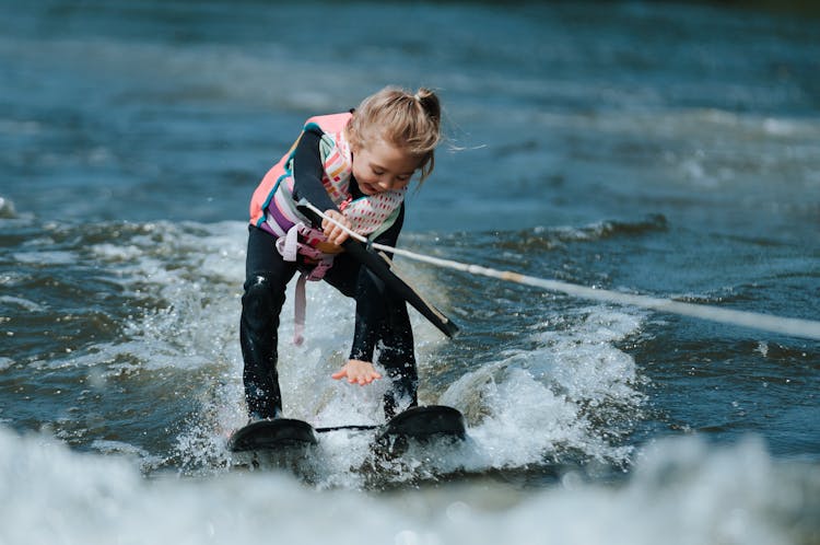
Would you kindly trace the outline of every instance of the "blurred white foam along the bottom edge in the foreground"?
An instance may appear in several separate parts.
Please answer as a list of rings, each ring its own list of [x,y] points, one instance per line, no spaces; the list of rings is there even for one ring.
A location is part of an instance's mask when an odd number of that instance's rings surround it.
[[[367,495],[279,472],[147,480],[128,459],[0,429],[0,543],[781,545],[820,531],[820,468],[763,445],[659,443],[624,486],[567,475],[536,491],[479,483]],[[150,522],[150,523],[149,523]]]

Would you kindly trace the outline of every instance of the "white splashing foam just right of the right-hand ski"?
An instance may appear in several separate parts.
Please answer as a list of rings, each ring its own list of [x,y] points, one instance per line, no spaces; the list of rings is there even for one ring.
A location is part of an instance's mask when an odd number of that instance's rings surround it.
[[[578,311],[569,331],[543,324],[532,348],[465,374],[442,396],[473,422],[473,469],[519,467],[566,452],[622,464],[632,449],[609,443],[590,420],[608,426],[640,414],[644,396],[634,360],[613,343],[640,328],[641,316],[595,306]],[[626,416],[629,415],[629,417]],[[606,417],[606,418],[605,418]]]

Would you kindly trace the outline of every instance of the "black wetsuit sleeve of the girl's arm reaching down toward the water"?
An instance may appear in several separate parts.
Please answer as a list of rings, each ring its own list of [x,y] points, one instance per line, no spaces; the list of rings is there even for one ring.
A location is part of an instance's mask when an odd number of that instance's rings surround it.
[[[396,246],[399,240],[401,227],[405,223],[405,205],[401,205],[398,218],[387,231],[376,236],[374,242],[387,246]],[[393,258],[393,254],[388,254]],[[373,275],[367,267],[361,267],[356,282],[356,323],[353,333],[353,346],[350,350],[350,359],[373,361],[373,352],[379,334],[390,322],[386,312],[388,305],[386,299],[393,299],[384,282]],[[403,304],[403,301],[398,301]],[[407,324],[409,327],[409,324]]]

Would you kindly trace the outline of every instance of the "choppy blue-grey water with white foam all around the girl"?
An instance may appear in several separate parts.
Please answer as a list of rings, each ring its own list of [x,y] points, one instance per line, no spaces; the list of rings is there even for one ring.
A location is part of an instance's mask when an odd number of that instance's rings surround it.
[[[338,27],[317,21],[332,11]],[[247,200],[303,120],[440,90],[449,142],[401,245],[540,278],[820,315],[820,33],[640,2],[0,2],[0,543],[820,543],[820,345],[399,259],[423,403],[469,441],[244,421]],[[318,31],[318,32],[317,32]],[[285,411],[374,424],[308,291]],[[366,513],[366,514],[363,514]],[[351,524],[350,520],[360,521]],[[151,521],[145,524],[145,521]]]

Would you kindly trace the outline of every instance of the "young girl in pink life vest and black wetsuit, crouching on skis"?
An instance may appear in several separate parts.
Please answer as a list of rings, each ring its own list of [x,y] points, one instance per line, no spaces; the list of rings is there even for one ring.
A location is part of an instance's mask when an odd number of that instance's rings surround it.
[[[395,415],[399,403],[417,405],[407,305],[341,252],[339,245],[348,239],[341,228],[326,219],[312,225],[296,204],[306,199],[348,229],[396,246],[407,186],[417,171],[423,182],[433,170],[440,118],[441,106],[432,91],[385,88],[351,113],[308,119],[290,152],[257,187],[250,202],[239,326],[251,419],[276,418],[282,409],[277,329],[285,286],[296,271],[302,274],[301,286],[305,278],[324,279],[356,301],[350,358],[332,378],[360,385],[380,379],[373,366],[378,349],[378,363],[391,380],[385,416]],[[301,286],[297,294],[303,293]],[[296,314],[298,343],[298,308]]]

